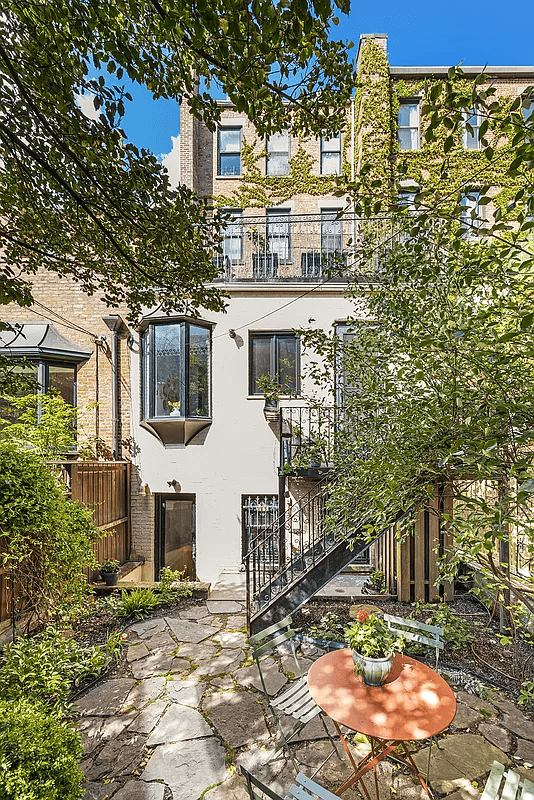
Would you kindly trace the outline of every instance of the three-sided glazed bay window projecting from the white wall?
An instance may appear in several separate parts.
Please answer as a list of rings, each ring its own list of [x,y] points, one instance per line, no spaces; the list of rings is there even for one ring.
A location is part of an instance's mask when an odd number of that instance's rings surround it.
[[[151,322],[142,334],[143,418],[210,417],[210,329]]]

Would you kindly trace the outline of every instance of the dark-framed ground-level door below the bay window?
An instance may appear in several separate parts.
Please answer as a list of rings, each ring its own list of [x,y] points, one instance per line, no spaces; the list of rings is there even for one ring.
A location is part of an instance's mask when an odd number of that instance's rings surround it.
[[[185,570],[186,578],[196,578],[195,511],[194,494],[156,495],[156,580],[163,567]]]

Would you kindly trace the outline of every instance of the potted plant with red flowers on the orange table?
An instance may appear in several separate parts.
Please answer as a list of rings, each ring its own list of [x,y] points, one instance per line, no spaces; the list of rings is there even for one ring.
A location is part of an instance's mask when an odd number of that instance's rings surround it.
[[[382,686],[393,666],[394,651],[404,650],[404,639],[392,633],[376,614],[362,609],[345,628],[345,641],[352,648],[355,668],[368,686]]]

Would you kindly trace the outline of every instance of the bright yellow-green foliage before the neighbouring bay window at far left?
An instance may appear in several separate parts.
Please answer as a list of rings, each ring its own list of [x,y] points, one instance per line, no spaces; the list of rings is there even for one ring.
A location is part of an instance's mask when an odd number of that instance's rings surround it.
[[[3,441],[18,448],[28,447],[44,458],[75,449],[78,412],[60,395],[33,393],[2,399],[18,412],[15,420],[3,423],[0,429]]]

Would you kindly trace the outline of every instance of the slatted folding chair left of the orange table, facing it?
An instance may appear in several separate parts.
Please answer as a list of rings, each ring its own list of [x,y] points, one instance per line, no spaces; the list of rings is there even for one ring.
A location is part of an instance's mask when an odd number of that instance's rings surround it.
[[[315,775],[324,764],[331,758],[334,753],[340,758],[339,752],[336,747],[336,743],[334,742],[330,731],[325,722],[325,718],[323,712],[312,698],[309,689],[308,689],[308,680],[307,675],[304,675],[299,664],[299,660],[297,658],[297,652],[295,649],[295,631],[291,627],[292,621],[291,617],[286,617],[281,622],[276,622],[274,625],[271,625],[269,628],[266,628],[264,631],[251,636],[249,639],[249,644],[252,648],[252,657],[256,662],[258,667],[258,671],[260,674],[261,685],[263,688],[263,693],[265,695],[265,699],[269,704],[271,712],[273,714],[274,719],[276,720],[276,725],[278,728],[278,733],[280,735],[280,741],[275,747],[275,751],[273,755],[276,755],[283,747],[287,746],[288,755],[293,762],[293,766],[295,767],[295,771],[299,771],[299,767],[297,762],[295,761],[294,757],[289,750],[289,742],[297,736],[298,733],[302,730],[302,728],[310,722],[315,717],[319,717],[322,723],[322,726],[325,730],[326,735],[330,739],[332,743],[332,752],[328,754],[326,759],[320,764],[320,766],[315,770],[313,775]],[[289,646],[291,650],[291,654],[293,655],[293,659],[295,661],[295,667],[297,671],[297,675],[299,676],[293,683],[291,683],[285,691],[282,692],[281,695],[278,697],[269,697],[267,692],[267,687],[265,685],[265,679],[263,676],[263,672],[261,669],[261,659],[263,656],[267,654],[273,653],[279,648],[281,645]],[[280,715],[286,715],[288,717],[292,717],[294,721],[293,728],[289,731],[289,733],[284,733],[282,728],[282,722]],[[312,776],[313,777],[313,776]]]

